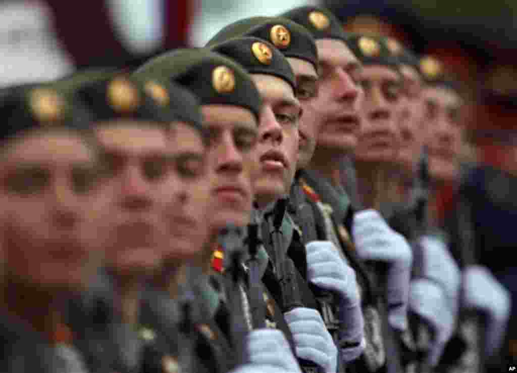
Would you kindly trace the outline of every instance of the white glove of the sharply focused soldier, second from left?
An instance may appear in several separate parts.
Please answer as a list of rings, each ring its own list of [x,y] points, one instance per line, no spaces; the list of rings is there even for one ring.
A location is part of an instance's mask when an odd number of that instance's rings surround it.
[[[284,314],[285,321],[293,334],[296,355],[336,373],[338,348],[318,311],[299,307]]]

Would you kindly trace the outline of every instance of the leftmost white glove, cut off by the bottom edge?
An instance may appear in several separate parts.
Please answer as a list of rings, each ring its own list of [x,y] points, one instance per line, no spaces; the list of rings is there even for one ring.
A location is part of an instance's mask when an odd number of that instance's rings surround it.
[[[280,373],[301,373],[296,357],[291,352],[284,334],[276,329],[256,329],[248,334],[248,354],[251,364],[242,366],[238,373],[260,371]],[[260,370],[267,367],[266,370]],[[235,373],[237,373],[237,371]]]

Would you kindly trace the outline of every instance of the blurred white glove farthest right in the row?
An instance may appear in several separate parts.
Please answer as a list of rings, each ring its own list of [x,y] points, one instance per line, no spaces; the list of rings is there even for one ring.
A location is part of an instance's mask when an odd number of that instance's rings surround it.
[[[486,325],[486,353],[491,356],[499,350],[510,317],[510,293],[490,271],[483,266],[472,265],[463,275],[464,305],[488,315]]]

